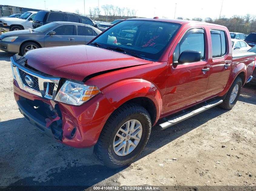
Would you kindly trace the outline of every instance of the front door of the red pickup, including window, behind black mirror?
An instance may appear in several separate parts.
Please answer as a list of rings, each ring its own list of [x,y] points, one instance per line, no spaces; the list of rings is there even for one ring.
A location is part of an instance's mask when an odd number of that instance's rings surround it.
[[[173,62],[177,61],[185,50],[201,52],[201,61],[179,65],[169,63],[165,115],[204,98],[210,69],[205,42],[207,42],[207,38],[204,29],[195,28],[188,30],[177,44],[173,53]]]

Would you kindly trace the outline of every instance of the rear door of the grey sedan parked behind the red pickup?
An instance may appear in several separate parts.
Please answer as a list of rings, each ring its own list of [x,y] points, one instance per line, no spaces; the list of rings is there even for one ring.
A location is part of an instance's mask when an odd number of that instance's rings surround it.
[[[95,31],[93,31],[91,27],[77,25],[77,37],[75,44],[87,44],[95,36]]]

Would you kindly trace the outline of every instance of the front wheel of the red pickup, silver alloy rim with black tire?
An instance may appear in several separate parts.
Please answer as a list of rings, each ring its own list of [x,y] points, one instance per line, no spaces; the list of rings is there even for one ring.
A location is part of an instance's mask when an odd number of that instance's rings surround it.
[[[130,121],[130,123],[128,121]],[[128,142],[131,142],[132,140],[135,143],[135,139],[132,139],[134,135],[132,136],[132,132],[131,132],[130,134],[131,139],[128,141],[126,140],[126,138],[129,136],[129,134],[127,134],[127,137],[125,138],[125,140],[122,141],[121,140],[122,138],[119,138],[119,136],[117,136],[117,133],[121,132],[120,131],[121,128],[125,127],[126,129],[126,125],[125,125],[126,122],[128,122],[129,124],[132,124],[134,121],[136,125],[135,127],[138,127],[137,129],[135,128],[136,129],[135,132],[137,130],[139,131],[142,130],[140,135],[141,138],[139,142],[137,142],[137,145],[135,146],[135,148],[133,148],[133,145],[131,145],[131,147],[128,147],[128,148],[131,148],[131,151],[129,149],[129,151],[127,151],[125,155],[120,156],[120,154],[124,153],[123,151],[125,151],[126,146],[125,148],[121,147],[120,151],[115,151],[115,150],[118,150],[118,147],[121,144],[124,144],[125,141],[126,141],[126,144],[124,145],[127,145]],[[139,126],[139,123],[141,123],[141,126]],[[151,119],[148,111],[144,107],[136,103],[126,103],[120,106],[118,109],[116,109],[111,114],[107,122],[105,123],[105,126],[103,127],[101,134],[98,138],[98,142],[95,145],[95,149],[96,149],[95,154],[98,157],[98,159],[109,168],[120,168],[120,167],[126,166],[128,164],[131,164],[131,162],[134,161],[135,158],[138,157],[138,155],[144,149],[145,145],[148,142],[150,132],[151,132]],[[114,150],[114,141],[115,142],[120,141],[116,138],[119,138],[121,140],[121,143],[117,144]]]

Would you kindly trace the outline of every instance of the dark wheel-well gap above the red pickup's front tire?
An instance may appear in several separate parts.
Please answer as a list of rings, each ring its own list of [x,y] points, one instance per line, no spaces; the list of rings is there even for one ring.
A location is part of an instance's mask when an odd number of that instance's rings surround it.
[[[152,125],[155,123],[156,107],[155,107],[154,102],[151,99],[149,99],[147,97],[136,97],[136,98],[133,98],[125,103],[128,103],[128,102],[137,103],[137,104],[141,105],[142,107],[144,107],[150,115]]]

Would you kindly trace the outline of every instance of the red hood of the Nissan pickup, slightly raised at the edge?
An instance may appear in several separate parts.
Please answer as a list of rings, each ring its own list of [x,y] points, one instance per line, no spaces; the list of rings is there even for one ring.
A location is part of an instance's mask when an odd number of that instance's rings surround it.
[[[24,57],[28,65],[38,71],[78,81],[97,72],[152,63],[88,45],[33,49]]]

